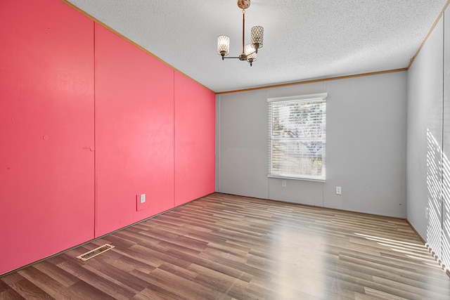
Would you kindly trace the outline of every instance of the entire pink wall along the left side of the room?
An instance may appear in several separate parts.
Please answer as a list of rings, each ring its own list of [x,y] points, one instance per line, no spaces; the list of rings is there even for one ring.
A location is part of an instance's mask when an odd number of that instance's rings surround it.
[[[214,192],[214,93],[59,0],[0,41],[0,274]]]

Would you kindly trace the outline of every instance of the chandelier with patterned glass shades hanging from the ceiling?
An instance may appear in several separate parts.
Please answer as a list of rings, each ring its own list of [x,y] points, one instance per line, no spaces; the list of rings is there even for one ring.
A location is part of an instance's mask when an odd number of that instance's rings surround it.
[[[240,56],[225,57],[230,51],[230,37],[226,35],[219,35],[217,38],[217,53],[222,57],[222,60],[238,58],[242,61],[247,60],[252,66],[252,63],[256,60],[258,48],[262,48],[264,28],[261,26],[252,27],[250,44],[245,45],[245,9],[250,7],[250,0],[238,0],[238,7],[242,8],[242,53],[240,53]]]

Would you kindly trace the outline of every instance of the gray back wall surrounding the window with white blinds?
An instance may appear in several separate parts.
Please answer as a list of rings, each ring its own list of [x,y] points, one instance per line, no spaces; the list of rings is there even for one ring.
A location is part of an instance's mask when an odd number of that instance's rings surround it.
[[[326,182],[267,178],[267,98],[328,93]],[[216,96],[216,190],[406,217],[406,72]],[[342,186],[342,195],[335,187]]]

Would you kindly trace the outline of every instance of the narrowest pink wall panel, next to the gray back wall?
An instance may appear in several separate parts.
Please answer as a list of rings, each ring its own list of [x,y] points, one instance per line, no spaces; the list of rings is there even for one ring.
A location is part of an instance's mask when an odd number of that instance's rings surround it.
[[[215,95],[175,72],[175,206],[214,192]]]

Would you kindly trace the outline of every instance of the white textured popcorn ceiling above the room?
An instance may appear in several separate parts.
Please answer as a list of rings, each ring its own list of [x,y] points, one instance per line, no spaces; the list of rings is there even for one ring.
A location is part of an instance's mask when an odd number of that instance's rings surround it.
[[[252,0],[250,27],[264,27],[253,66],[222,61],[217,36],[242,45],[236,0],[69,0],[215,92],[404,68],[447,0]]]

